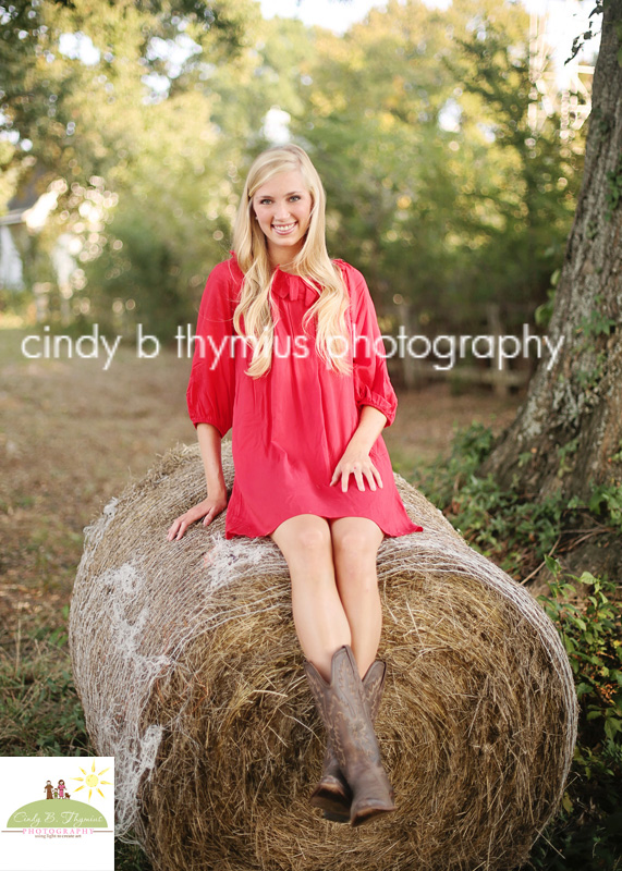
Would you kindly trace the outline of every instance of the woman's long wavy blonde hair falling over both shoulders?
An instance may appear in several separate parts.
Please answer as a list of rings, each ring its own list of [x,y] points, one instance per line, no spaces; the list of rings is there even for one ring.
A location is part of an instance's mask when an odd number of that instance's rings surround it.
[[[253,197],[261,185],[279,172],[300,171],[312,197],[312,212],[306,238],[294,257],[291,271],[318,294],[303,318],[303,329],[317,315],[316,349],[320,358],[342,373],[351,371],[343,342],[347,342],[345,311],[347,291],[339,267],[326,248],[326,194],[316,168],[306,151],[297,145],[280,145],[263,151],[253,162],[233,226],[233,249],[244,272],[242,295],[233,316],[237,333],[244,331],[254,345],[246,373],[265,375],[272,363],[275,321],[270,306],[270,289],[275,273],[270,268],[266,236],[254,218]],[[341,341],[340,341],[341,340]],[[330,351],[332,348],[332,352]]]

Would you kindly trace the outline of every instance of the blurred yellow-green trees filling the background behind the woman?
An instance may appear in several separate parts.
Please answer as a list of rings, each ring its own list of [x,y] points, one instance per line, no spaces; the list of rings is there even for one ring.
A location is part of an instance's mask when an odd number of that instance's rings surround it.
[[[392,2],[343,36],[263,21],[253,0],[11,10],[0,126],[19,138],[0,154],[0,197],[27,173],[41,192],[59,180],[50,228],[83,245],[50,321],[70,309],[161,339],[194,321],[276,106],[325,182],[331,254],[365,271],[388,320],[400,306],[413,333],[475,332],[503,299],[511,331],[546,298],[585,134],[560,147],[551,119],[530,135],[519,4]],[[27,284],[53,283],[32,252],[23,259]]]

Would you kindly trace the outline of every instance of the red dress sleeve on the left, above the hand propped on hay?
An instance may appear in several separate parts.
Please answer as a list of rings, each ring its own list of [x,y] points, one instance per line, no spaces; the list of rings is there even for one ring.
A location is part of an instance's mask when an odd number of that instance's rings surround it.
[[[221,437],[231,429],[235,397],[232,292],[231,271],[225,261],[212,269],[203,292],[186,391],[194,426],[212,424]]]

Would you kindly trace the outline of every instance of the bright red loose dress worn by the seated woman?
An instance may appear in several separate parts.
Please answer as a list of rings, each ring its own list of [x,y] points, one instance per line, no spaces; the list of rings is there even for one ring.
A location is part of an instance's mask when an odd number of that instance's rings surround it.
[[[334,260],[350,294],[346,318],[352,373],[330,370],[318,356],[314,322],[305,335],[302,319],[317,292],[300,277],[277,267],[271,290],[276,314],[272,364],[256,379],[245,375],[252,352],[233,329],[244,275],[232,255],[207,279],[187,388],[195,427],[212,424],[221,436],[232,428],[235,479],[227,507],[225,538],[267,536],[297,514],[367,517],[387,536],[422,531],[423,527],[410,519],[398,493],[381,436],[369,456],[380,473],[382,488],[370,490],[364,478],[365,489],[361,491],[353,476],[345,493],[341,478],[330,486],[358,426],[362,406],[373,405],[382,412],[387,426],[393,422],[398,406],[374,303],[361,272],[343,260]],[[374,353],[370,342],[363,338],[354,341],[355,336],[378,340],[380,355]],[[334,351],[339,353],[340,345]]]

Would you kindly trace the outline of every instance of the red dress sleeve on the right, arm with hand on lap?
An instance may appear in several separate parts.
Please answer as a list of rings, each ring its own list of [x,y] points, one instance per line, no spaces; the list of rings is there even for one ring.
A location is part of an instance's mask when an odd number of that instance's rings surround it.
[[[398,397],[389,379],[382,335],[371,294],[358,270],[350,271],[353,303],[353,364],[356,405],[373,405],[387,417],[387,427],[395,419]]]

